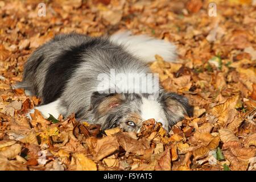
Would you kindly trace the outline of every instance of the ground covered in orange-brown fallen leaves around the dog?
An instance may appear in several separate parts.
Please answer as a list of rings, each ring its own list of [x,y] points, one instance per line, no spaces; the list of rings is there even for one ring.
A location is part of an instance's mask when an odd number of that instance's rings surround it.
[[[255,1],[0,1],[0,170],[256,170]],[[11,89],[36,47],[59,32],[91,36],[129,29],[177,46],[179,63],[150,66],[166,90],[195,106],[167,133],[154,120],[141,133],[101,131],[74,115],[38,111],[40,98]]]

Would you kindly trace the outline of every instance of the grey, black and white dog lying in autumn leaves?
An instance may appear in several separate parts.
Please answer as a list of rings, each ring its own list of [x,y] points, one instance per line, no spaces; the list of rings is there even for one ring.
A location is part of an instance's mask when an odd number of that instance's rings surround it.
[[[166,92],[152,76],[148,63],[156,54],[174,61],[176,47],[129,31],[97,38],[60,34],[32,53],[24,65],[22,82],[14,88],[41,98],[42,105],[35,109],[46,118],[75,113],[81,121],[100,124],[102,130],[119,126],[135,132],[143,121],[154,118],[169,131],[184,115],[192,116],[193,106],[184,96]],[[135,76],[130,79],[128,75]],[[145,86],[137,89],[127,84],[138,78],[137,87],[146,82],[146,92]]]

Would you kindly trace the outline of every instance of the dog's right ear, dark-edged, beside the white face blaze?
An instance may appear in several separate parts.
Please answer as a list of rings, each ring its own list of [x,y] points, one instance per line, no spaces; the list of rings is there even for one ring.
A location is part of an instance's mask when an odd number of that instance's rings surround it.
[[[176,93],[162,93],[161,102],[171,125],[181,121],[184,115],[193,116],[194,107],[189,105],[188,99]]]

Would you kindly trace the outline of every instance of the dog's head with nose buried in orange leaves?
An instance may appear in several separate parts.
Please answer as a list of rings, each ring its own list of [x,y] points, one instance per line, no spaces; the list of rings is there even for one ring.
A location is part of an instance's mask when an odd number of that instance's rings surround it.
[[[102,129],[120,126],[125,131],[139,131],[143,121],[154,118],[164,129],[169,128],[184,115],[193,115],[193,106],[187,98],[175,93],[98,93],[93,92],[90,111]]]

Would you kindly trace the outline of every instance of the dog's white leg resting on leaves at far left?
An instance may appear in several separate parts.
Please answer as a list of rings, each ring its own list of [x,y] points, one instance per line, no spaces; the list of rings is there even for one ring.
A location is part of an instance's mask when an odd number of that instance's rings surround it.
[[[44,118],[48,118],[49,114],[53,115],[56,119],[59,117],[60,113],[58,111],[59,108],[59,100],[51,102],[46,105],[35,107],[35,109],[39,110]],[[34,113],[35,109],[30,110],[29,113],[27,113],[27,117],[31,119],[30,113]]]

